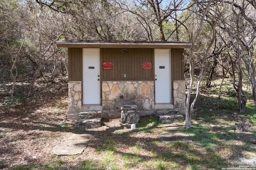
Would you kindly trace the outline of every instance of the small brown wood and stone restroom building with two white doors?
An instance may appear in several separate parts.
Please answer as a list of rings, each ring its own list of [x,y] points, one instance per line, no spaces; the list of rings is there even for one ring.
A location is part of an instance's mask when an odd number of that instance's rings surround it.
[[[157,109],[184,113],[184,48],[170,41],[58,41],[68,48],[68,119],[83,111],[118,118],[123,105],[140,115]]]

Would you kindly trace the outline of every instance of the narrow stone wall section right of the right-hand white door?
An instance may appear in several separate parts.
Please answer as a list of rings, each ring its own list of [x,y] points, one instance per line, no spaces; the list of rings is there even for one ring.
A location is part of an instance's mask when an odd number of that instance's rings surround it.
[[[186,110],[186,81],[173,81],[173,103],[174,108],[178,109],[180,114],[185,114]]]

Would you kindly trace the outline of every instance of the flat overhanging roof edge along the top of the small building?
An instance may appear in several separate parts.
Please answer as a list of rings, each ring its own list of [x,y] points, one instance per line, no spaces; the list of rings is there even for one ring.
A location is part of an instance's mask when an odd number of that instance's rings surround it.
[[[57,47],[68,48],[188,48],[191,44],[179,41],[57,41]]]

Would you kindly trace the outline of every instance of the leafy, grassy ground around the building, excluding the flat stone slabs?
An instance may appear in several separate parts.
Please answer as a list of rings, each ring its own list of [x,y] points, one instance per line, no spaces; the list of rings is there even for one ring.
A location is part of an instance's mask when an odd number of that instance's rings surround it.
[[[197,79],[196,79],[197,80]],[[225,78],[214,78],[216,86],[200,95],[192,114],[191,128],[168,130],[158,117],[142,117],[135,130],[121,119],[103,119],[97,134],[79,155],[57,156],[52,150],[76,129],[66,120],[67,85],[62,79],[46,84],[39,78],[29,97],[8,100],[11,83],[1,83],[0,168],[7,170],[200,170],[239,168],[255,164],[256,114],[252,96],[246,111],[239,113],[236,91]],[[54,85],[54,86],[53,86]],[[29,86],[17,82],[17,90]],[[196,89],[192,90],[192,98]],[[185,122],[179,122],[185,125]],[[192,143],[159,140],[162,133],[178,132],[192,137]]]

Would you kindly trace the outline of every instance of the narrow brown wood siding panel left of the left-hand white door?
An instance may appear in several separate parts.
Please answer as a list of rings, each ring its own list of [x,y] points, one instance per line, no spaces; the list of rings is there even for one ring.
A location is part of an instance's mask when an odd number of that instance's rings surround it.
[[[82,48],[68,48],[68,80],[83,80],[83,51]]]

